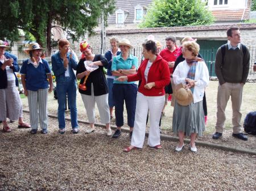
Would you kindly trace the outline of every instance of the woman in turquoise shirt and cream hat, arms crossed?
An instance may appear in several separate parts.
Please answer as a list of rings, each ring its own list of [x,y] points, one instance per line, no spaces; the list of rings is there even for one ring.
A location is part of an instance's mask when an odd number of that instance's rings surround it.
[[[122,39],[117,43],[121,49],[121,54],[113,58],[112,75],[115,76],[113,84],[113,98],[115,104],[115,124],[117,130],[113,134],[113,138],[121,135],[121,127],[123,126],[123,103],[125,101],[127,111],[127,121],[130,127],[130,138],[133,133],[136,97],[138,87],[135,82],[119,82],[116,78],[136,74],[138,69],[138,58],[129,53],[133,46],[127,39]]]

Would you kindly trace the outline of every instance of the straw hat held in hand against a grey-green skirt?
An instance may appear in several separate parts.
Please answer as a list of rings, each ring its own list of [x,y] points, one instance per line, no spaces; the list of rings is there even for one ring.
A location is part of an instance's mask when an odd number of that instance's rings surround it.
[[[190,89],[185,89],[185,86],[180,83],[175,88],[175,98],[178,104],[186,106],[192,103],[193,94]]]

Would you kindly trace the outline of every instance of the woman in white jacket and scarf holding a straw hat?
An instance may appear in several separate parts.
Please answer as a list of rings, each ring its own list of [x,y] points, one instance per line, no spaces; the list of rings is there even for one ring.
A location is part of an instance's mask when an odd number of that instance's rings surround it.
[[[196,152],[196,135],[202,135],[204,131],[203,96],[205,87],[209,83],[209,71],[204,60],[197,57],[199,44],[188,41],[182,49],[185,60],[177,65],[174,74],[175,107],[172,120],[174,133],[179,134],[179,145],[176,151],[184,147],[184,137],[190,136],[190,150]]]

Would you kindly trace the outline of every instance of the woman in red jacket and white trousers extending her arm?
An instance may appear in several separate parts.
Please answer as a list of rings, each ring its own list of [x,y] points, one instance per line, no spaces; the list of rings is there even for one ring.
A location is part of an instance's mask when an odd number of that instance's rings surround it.
[[[145,60],[141,63],[137,74],[117,79],[121,82],[142,80],[137,94],[131,145],[123,150],[125,152],[143,147],[148,110],[150,113],[150,130],[147,144],[157,149],[162,148],[160,145],[159,120],[164,105],[164,87],[170,83],[170,71],[168,63],[157,54],[155,41],[148,40],[142,46]]]

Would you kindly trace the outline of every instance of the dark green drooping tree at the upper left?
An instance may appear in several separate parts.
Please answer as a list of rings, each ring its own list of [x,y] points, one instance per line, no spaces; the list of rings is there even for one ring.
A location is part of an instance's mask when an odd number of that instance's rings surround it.
[[[114,11],[114,0],[1,0],[0,39],[17,40],[18,29],[31,33],[51,52],[51,29],[63,29],[73,40],[93,33],[101,14]],[[106,22],[106,20],[105,20]]]

